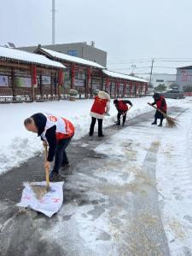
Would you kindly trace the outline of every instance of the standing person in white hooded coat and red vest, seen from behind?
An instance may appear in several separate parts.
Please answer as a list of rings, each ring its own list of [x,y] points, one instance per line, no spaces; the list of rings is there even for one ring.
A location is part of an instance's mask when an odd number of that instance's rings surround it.
[[[94,127],[96,125],[96,119],[98,121],[98,137],[103,137],[102,134],[102,119],[104,115],[108,114],[110,109],[110,96],[107,92],[99,90],[95,96],[95,101],[90,109],[91,124],[90,124],[90,136],[94,133]]]

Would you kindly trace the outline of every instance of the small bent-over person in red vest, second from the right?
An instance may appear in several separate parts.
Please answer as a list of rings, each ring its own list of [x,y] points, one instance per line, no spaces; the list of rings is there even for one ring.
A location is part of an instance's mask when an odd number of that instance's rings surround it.
[[[127,106],[127,104],[130,105],[130,108],[132,107],[132,103],[130,101],[124,101],[124,100],[118,100],[115,99],[113,100],[113,104],[114,106],[117,108],[118,114],[117,114],[117,123],[116,125],[120,125],[120,117],[121,115],[123,115],[123,124],[122,126],[125,125],[125,120],[126,120],[126,113],[129,110],[129,107]]]

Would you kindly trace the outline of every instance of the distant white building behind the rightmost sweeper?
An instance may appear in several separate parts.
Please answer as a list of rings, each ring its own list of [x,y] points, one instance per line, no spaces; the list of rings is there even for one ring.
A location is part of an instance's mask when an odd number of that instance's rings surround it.
[[[148,81],[150,78],[147,79]],[[170,73],[153,73],[151,77],[151,84],[157,87],[159,84],[165,84],[168,89],[171,84],[176,82],[176,74]]]

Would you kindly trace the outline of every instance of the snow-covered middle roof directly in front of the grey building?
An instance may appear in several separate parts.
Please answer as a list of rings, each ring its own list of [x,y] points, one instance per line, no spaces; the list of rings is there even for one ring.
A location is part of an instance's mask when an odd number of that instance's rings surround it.
[[[52,49],[45,49],[43,47],[41,47],[40,49],[43,49],[44,52],[51,55],[52,57],[55,57],[55,58],[63,60],[63,61],[71,61],[71,62],[83,64],[83,65],[86,65],[86,66],[90,66],[90,67],[105,68],[105,67],[102,67],[102,65],[100,65],[96,62],[87,61],[87,60],[84,60],[82,58],[74,57],[74,56],[71,56],[71,55],[66,55],[66,54],[57,52],[57,51],[52,50]]]

